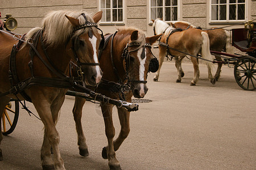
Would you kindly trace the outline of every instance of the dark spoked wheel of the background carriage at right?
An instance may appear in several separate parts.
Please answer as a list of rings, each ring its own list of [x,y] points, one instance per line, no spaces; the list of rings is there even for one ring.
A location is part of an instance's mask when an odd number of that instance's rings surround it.
[[[243,56],[234,65],[234,77],[244,90],[256,89],[256,58]]]

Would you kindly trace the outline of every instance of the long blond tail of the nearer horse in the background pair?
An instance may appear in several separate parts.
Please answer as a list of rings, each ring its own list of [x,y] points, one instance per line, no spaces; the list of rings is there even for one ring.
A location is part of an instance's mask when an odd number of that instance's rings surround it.
[[[201,35],[203,37],[203,44],[201,45],[201,55],[204,59],[208,59],[209,61],[206,62],[206,65],[209,69],[213,67],[213,63],[210,61],[213,61],[212,54],[210,54],[210,40],[208,33],[201,32]]]

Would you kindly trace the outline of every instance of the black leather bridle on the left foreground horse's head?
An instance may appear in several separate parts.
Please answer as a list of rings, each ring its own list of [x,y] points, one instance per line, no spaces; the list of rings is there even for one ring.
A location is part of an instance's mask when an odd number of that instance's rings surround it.
[[[104,46],[104,43],[105,43],[105,39],[104,39],[104,35],[103,35],[102,30],[100,28],[98,28],[97,23],[90,23],[87,20],[86,15],[84,13],[82,13],[81,15],[85,19],[85,24],[79,25],[78,27],[74,28],[72,35],[74,35],[76,31],[78,31],[78,30],[80,30],[82,28],[87,28],[87,27],[95,27],[95,28],[97,28],[98,30],[101,31],[101,42],[100,42],[100,46],[99,46],[99,49],[101,50],[103,48],[103,46]],[[82,35],[83,33],[84,32],[80,33],[80,35]],[[96,62],[92,62],[92,63],[80,62],[79,57],[78,57],[77,52],[76,52],[79,49],[79,36],[73,37],[73,39],[72,39],[72,48],[71,49],[73,51],[73,54],[74,54],[76,62],[77,62],[77,67],[78,67],[77,74],[79,76],[81,76],[82,79],[83,79],[84,73],[82,72],[82,66],[99,66],[100,63],[99,62],[97,62],[97,63]],[[93,37],[92,29],[89,29],[88,36],[90,37],[90,39],[92,39],[92,37]]]

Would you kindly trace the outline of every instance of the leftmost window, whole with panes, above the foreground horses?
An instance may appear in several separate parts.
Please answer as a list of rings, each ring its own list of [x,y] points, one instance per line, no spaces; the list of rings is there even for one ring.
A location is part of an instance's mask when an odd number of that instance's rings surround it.
[[[100,0],[101,22],[123,22],[123,0]]]

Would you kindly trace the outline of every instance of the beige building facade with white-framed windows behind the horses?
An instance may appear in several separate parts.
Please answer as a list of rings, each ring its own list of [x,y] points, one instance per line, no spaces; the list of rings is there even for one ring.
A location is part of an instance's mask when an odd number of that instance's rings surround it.
[[[1,0],[2,19],[12,14],[18,21],[17,33],[26,33],[39,27],[43,17],[52,10],[104,11],[100,28],[104,33],[114,32],[126,25],[142,29],[147,36],[154,35],[151,19],[166,22],[184,20],[202,28],[237,25],[256,19],[256,0]]]

